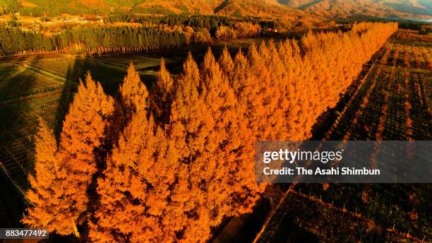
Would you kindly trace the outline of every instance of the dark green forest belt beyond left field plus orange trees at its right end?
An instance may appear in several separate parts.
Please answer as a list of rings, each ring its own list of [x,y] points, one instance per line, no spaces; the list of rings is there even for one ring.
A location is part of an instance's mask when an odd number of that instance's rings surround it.
[[[251,37],[259,33],[260,26],[257,24],[235,23],[233,28],[221,26],[216,37],[217,40],[234,40],[236,37]],[[0,27],[0,56],[54,50],[84,50],[97,54],[142,52],[149,49],[179,47],[191,42],[208,43],[212,42],[212,37],[206,28],[194,30],[182,25],[136,27],[119,24],[86,28],[78,25],[51,35]]]

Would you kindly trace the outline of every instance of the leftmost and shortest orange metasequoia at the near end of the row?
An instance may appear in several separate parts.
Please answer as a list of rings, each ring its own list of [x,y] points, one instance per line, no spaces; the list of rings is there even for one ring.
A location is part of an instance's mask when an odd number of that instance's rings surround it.
[[[79,236],[65,201],[66,171],[57,155],[57,143],[47,124],[39,119],[35,136],[35,175],[30,175],[31,189],[26,197],[32,203],[22,222],[60,235]]]

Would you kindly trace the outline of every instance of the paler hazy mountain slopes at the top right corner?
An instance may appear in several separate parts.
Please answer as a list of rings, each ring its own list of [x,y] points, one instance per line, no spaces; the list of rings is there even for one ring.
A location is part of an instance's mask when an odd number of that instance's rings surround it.
[[[280,0],[280,3],[325,18],[432,18],[432,3],[428,0]]]

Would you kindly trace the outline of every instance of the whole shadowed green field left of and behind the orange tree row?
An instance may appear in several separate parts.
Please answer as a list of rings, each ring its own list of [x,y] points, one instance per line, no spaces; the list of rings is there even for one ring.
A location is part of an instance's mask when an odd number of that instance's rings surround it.
[[[252,42],[261,40],[267,39],[239,40],[227,47],[234,53],[239,47],[246,49]],[[3,223],[16,225],[25,207],[23,194],[29,186],[28,174],[32,172],[34,162],[33,136],[37,116],[47,121],[58,136],[78,81],[85,78],[87,71],[90,71],[92,78],[100,81],[106,93],[115,96],[131,61],[141,80],[150,87],[162,57],[167,69],[175,74],[181,71],[188,52],[192,52],[199,63],[207,48],[191,46],[176,49],[175,52],[163,50],[88,57],[56,52],[0,57],[0,173],[4,180],[1,184],[9,191],[0,196],[0,227]],[[224,45],[212,47],[216,56],[223,48]],[[2,205],[10,204],[13,197],[18,199],[7,207],[10,212],[6,212]],[[11,208],[15,208],[16,212],[12,212]]]

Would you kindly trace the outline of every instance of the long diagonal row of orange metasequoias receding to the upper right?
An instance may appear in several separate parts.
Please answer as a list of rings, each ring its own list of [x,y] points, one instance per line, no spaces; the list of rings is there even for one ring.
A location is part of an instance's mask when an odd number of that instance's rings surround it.
[[[162,61],[151,90],[130,66],[116,100],[89,74],[59,143],[40,122],[23,223],[92,242],[207,241],[265,186],[254,141],[310,138],[397,24],[356,30],[251,45],[234,59],[209,49],[176,78]]]

